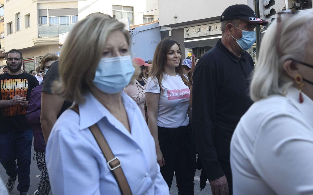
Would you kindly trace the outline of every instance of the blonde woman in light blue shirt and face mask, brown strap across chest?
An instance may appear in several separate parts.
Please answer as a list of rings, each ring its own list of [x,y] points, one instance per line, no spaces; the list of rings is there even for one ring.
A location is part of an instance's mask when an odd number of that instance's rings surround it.
[[[69,33],[54,90],[74,101],[78,112],[65,111],[49,136],[46,161],[54,194],[169,194],[141,110],[122,92],[135,71],[129,49],[124,25],[106,14],[90,14]],[[98,145],[105,143],[98,140],[102,135],[112,161]]]

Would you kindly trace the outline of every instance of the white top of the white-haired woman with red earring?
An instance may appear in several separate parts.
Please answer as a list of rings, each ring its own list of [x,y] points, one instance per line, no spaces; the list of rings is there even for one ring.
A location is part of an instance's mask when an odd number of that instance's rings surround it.
[[[231,140],[234,195],[313,194],[313,101],[287,95],[255,102]]]

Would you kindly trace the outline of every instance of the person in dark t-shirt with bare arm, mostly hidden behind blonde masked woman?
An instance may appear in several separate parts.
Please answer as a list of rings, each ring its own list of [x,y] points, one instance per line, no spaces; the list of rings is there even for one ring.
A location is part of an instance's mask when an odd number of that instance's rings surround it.
[[[59,60],[50,66],[49,71],[45,75],[41,89],[40,123],[44,134],[44,141],[46,143],[57,118],[59,118],[59,116],[72,105],[71,102],[53,94],[53,83],[57,79],[59,79]]]

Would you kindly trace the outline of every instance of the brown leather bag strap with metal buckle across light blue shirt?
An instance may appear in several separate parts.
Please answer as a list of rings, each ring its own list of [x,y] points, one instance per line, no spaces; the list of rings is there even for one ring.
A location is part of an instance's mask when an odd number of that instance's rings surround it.
[[[74,110],[77,114],[79,114],[77,104],[71,106],[70,109]],[[121,167],[122,163],[120,159],[115,157],[114,154],[112,153],[112,150],[109,144],[107,143],[104,135],[101,133],[97,123],[90,126],[89,129],[92,135],[94,136],[95,140],[97,141],[103,153],[103,156],[106,159],[107,165],[109,169],[112,171],[112,174],[121,190],[121,193],[123,195],[132,195],[131,188],[129,187],[129,184]]]

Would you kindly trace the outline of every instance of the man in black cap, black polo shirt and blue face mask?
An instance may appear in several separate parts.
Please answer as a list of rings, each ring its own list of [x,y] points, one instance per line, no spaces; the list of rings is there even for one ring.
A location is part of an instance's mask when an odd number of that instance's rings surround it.
[[[252,105],[249,77],[254,69],[246,52],[255,42],[256,25],[267,25],[247,5],[222,14],[222,39],[199,60],[192,84],[192,128],[203,166],[200,187],[208,178],[213,195],[232,194],[230,140],[241,116]]]

